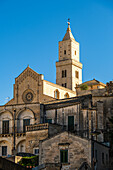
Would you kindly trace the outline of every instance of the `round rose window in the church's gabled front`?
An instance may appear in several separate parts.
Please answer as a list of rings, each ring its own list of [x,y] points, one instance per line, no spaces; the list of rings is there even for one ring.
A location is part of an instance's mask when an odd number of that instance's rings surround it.
[[[34,92],[31,89],[27,89],[24,91],[23,95],[22,95],[22,99],[25,103],[31,103],[33,101],[34,98]]]

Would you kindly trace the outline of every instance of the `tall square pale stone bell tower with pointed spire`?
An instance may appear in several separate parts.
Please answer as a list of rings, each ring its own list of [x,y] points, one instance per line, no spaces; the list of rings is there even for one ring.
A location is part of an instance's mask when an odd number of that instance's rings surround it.
[[[82,64],[79,62],[79,43],[75,41],[68,19],[68,28],[59,41],[59,61],[56,62],[56,84],[75,91],[82,83]]]

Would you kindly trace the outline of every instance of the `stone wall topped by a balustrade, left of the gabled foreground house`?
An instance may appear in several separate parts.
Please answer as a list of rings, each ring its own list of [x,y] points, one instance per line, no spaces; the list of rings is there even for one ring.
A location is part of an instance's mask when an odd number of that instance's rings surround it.
[[[26,152],[33,153],[34,148],[39,149],[39,141],[54,136],[62,131],[62,126],[53,124],[38,124],[28,126],[26,132]]]

